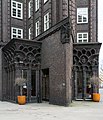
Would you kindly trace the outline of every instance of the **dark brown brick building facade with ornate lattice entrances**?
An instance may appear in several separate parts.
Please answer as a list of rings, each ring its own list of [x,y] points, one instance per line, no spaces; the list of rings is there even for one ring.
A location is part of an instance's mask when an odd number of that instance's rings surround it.
[[[28,3],[30,0],[15,0],[17,2],[23,3],[23,19],[17,19],[11,17],[11,0],[0,0],[0,99],[16,102],[16,96],[18,94],[18,89],[12,88],[15,81],[16,75],[20,75],[20,70],[25,68],[28,73],[29,82],[27,84],[27,102],[42,102],[46,99],[50,104],[57,105],[68,105],[71,103],[72,99],[77,97],[77,76],[79,69],[80,71],[86,68],[86,64],[79,64],[78,58],[81,56],[82,59],[83,51],[87,52],[85,57],[89,60],[91,54],[91,46],[95,45],[92,51],[95,51],[96,57],[99,56],[100,45],[98,43],[98,19],[97,19],[97,0],[48,0],[45,4],[43,0],[39,0],[39,9],[35,11],[35,0],[31,1],[31,17],[28,17]],[[77,22],[77,8],[88,7],[88,23],[86,24],[76,24]],[[44,32],[44,15],[49,12],[49,26],[50,28]],[[40,35],[37,37],[35,34],[35,23],[39,20]],[[17,27],[23,29],[23,39],[15,39],[14,42],[11,40],[11,27]],[[31,40],[28,40],[29,28],[31,27]],[[78,32],[88,32],[88,43],[77,43],[77,33]],[[16,42],[15,42],[16,41]],[[30,41],[30,43],[29,43]],[[23,58],[23,50],[29,54],[33,52],[33,59],[37,55],[37,49],[35,47],[35,41],[40,42],[41,50],[39,51],[41,56],[34,63],[33,69],[31,66],[32,60],[25,60]],[[95,44],[93,44],[95,42]],[[19,44],[20,43],[20,44]],[[76,44],[75,44],[76,43]],[[12,56],[11,46],[18,44],[13,50],[15,55]],[[6,45],[6,46],[5,46]],[[35,50],[32,51],[32,45],[34,45]],[[16,49],[21,48],[19,52]],[[7,47],[7,49],[6,49]],[[83,49],[79,49],[79,47]],[[86,51],[88,47],[88,50]],[[3,48],[3,49],[2,49]],[[24,49],[25,48],[25,49]],[[38,46],[37,46],[38,48]],[[3,52],[2,52],[3,50]],[[36,52],[35,52],[36,51]],[[78,52],[78,56],[76,56]],[[88,52],[89,51],[89,52]],[[5,53],[9,56],[5,56]],[[18,53],[18,54],[17,54]],[[80,53],[80,56],[79,56]],[[81,54],[82,53],[82,54]],[[90,53],[90,54],[89,54]],[[3,58],[2,58],[3,55]],[[15,66],[14,57],[19,57],[25,63],[21,64],[18,62]],[[31,55],[32,56],[32,55]],[[77,65],[75,66],[74,57],[76,56]],[[8,59],[6,61],[6,58]],[[93,53],[93,59],[95,55]],[[11,59],[14,61],[10,62]],[[3,64],[2,64],[3,60]],[[97,59],[98,62],[98,59]],[[2,66],[3,65],[3,66]],[[12,66],[12,67],[11,67]],[[38,67],[39,66],[39,67]],[[91,63],[88,66],[92,66]],[[98,64],[96,64],[95,72],[98,74]],[[3,68],[3,69],[2,69]],[[5,69],[6,68],[6,69]],[[90,67],[91,68],[91,67]],[[32,72],[34,70],[36,77],[36,95],[32,97],[31,87],[32,87]],[[77,71],[77,73],[76,73]],[[85,70],[86,72],[86,70]],[[86,75],[85,72],[83,76],[83,97],[86,95]],[[13,77],[11,76],[13,74]],[[91,71],[92,74],[92,71]],[[9,78],[8,78],[9,75]],[[3,77],[2,77],[3,76]],[[5,76],[5,77],[4,77]],[[47,81],[46,81],[47,80]],[[76,80],[76,82],[75,82]],[[44,81],[44,82],[43,82]],[[2,84],[3,82],[3,84]],[[12,90],[14,92],[12,92]],[[84,92],[85,91],[85,92]],[[83,98],[83,99],[84,99]]]

